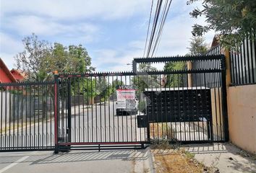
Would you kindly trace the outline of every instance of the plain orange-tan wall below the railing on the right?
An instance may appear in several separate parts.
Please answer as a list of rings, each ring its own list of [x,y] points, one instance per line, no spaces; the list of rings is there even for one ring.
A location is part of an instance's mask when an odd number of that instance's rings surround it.
[[[230,141],[256,154],[256,84],[229,87],[228,109]]]

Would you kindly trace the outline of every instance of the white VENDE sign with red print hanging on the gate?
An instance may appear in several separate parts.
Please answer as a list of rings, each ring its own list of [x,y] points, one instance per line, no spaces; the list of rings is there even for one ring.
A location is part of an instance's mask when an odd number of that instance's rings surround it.
[[[131,110],[136,108],[135,100],[135,86],[132,85],[118,85],[116,86],[116,108]]]

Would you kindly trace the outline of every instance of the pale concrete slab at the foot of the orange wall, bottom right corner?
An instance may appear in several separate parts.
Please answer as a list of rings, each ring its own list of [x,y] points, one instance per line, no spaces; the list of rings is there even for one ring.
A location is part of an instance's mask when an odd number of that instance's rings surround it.
[[[256,172],[256,160],[231,143],[191,144],[182,148],[195,154],[195,159],[219,172]]]

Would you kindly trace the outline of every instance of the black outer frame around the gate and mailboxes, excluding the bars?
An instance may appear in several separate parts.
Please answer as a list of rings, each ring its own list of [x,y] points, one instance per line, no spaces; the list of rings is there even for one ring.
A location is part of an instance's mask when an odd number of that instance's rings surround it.
[[[141,72],[137,71],[137,64],[140,63],[166,63],[166,62],[178,62],[178,61],[210,61],[210,60],[219,60],[220,61],[220,69],[200,69],[200,70],[194,70],[194,69],[188,69],[188,70],[181,70],[181,71],[146,71],[146,72]],[[218,55],[218,56],[176,56],[176,57],[158,57],[158,58],[134,58],[132,61],[132,71],[127,71],[127,72],[97,72],[97,73],[90,73],[90,74],[58,74],[58,71],[54,72],[54,81],[55,81],[55,149],[54,153],[59,153],[59,151],[67,151],[70,149],[70,145],[97,145],[98,150],[101,150],[101,145],[119,145],[119,144],[124,144],[124,145],[129,145],[129,144],[134,144],[134,145],[141,145],[141,148],[145,147],[145,144],[150,143],[148,142],[93,142],[93,143],[59,143],[59,128],[58,128],[58,118],[59,118],[59,78],[61,77],[81,77],[81,76],[137,76],[137,75],[157,75],[157,74],[200,74],[200,73],[214,73],[214,72],[221,72],[221,94],[222,94],[222,105],[221,105],[221,110],[222,110],[222,115],[223,115],[223,131],[224,131],[224,138],[225,140],[223,142],[229,141],[229,123],[228,123],[228,112],[227,112],[227,98],[226,98],[226,65],[225,65],[225,56],[223,55]],[[70,94],[70,93],[69,93]],[[69,98],[70,99],[70,98]],[[71,116],[70,112],[70,100],[68,99],[68,116]],[[150,132],[149,129],[149,123],[147,127],[147,131]],[[150,133],[148,133],[148,136],[150,136]],[[150,139],[148,139],[150,140]],[[189,143],[210,143],[212,141],[189,141]],[[182,141],[182,143],[187,143]],[[64,146],[64,149],[61,149],[61,146]],[[66,148],[65,148],[66,147]],[[90,149],[91,146],[88,146]],[[95,149],[95,148],[93,148]]]

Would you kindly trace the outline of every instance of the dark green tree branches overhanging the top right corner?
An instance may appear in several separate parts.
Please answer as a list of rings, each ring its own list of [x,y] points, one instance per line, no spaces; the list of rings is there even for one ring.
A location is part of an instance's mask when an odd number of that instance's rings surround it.
[[[192,4],[198,0],[189,0]],[[215,30],[221,35],[220,41],[226,47],[241,43],[247,35],[255,39],[256,3],[254,0],[205,0],[202,9],[194,9],[194,18],[205,16],[208,25],[193,25],[192,35],[202,36],[204,32]]]

